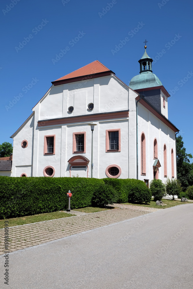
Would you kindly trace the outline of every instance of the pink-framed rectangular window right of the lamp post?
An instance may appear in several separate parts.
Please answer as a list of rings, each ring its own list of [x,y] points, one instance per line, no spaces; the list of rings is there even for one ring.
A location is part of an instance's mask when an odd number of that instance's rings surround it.
[[[121,129],[106,129],[106,153],[121,151]]]

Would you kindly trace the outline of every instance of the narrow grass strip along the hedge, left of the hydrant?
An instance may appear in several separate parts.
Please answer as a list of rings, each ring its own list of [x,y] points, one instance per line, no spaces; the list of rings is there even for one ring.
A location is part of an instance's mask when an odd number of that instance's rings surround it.
[[[66,218],[66,217],[71,217],[71,216],[75,216],[75,215],[58,211],[58,212],[44,213],[44,214],[38,214],[38,215],[33,215],[33,216],[11,218],[11,219],[6,219],[6,220],[9,221],[9,227],[12,227],[12,226],[17,226],[17,225],[41,222],[41,221]],[[5,220],[0,220],[0,228],[4,228],[4,224],[5,224]]]

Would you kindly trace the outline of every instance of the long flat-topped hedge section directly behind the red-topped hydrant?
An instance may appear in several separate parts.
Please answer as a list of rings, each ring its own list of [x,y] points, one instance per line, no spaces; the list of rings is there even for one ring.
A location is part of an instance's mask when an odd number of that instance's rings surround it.
[[[71,209],[89,207],[101,184],[102,180],[90,178],[0,176],[0,218],[63,210],[68,190],[73,194]]]

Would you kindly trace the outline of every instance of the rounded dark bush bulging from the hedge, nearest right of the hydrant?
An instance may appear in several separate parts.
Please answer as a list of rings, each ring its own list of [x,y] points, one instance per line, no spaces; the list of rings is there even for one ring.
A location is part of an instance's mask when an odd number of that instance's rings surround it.
[[[100,184],[98,189],[93,194],[92,204],[97,206],[104,206],[113,204],[115,201],[115,189],[108,184]]]

